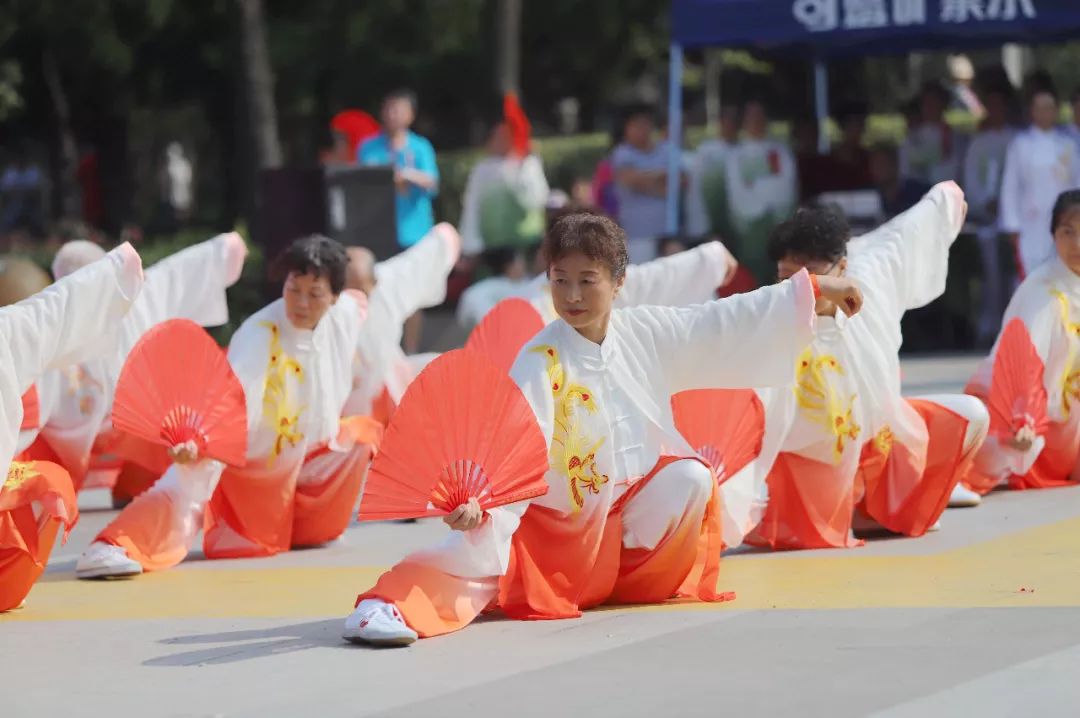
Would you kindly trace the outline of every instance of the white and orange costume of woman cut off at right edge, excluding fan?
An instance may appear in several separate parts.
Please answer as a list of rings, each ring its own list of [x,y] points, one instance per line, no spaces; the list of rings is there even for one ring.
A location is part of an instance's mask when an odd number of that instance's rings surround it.
[[[1050,240],[1047,240],[1049,243]],[[1077,480],[1080,455],[1080,276],[1054,255],[1031,272],[1016,289],[1005,310],[1004,325],[1018,320],[1027,329],[1040,366],[1029,367],[1042,375],[1047,416],[1044,431],[1026,451],[989,436],[975,459],[968,478],[971,489],[986,493],[1008,483],[1013,489],[1065,486]],[[1001,338],[990,356],[968,384],[968,393],[986,399],[994,381],[994,360]],[[1041,370],[1041,371],[1040,371]],[[1015,406],[1018,404],[1017,397]],[[1034,417],[1032,423],[1034,423]]]

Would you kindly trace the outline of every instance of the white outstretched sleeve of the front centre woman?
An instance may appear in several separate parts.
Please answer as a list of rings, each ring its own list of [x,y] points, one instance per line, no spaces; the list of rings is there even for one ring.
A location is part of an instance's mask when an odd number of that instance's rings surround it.
[[[672,394],[788,384],[813,341],[810,275],[696,307],[622,310],[651,336]]]

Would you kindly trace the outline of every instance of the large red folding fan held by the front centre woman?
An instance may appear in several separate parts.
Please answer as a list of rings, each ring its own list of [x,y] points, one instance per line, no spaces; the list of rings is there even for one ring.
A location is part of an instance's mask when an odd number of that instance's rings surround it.
[[[505,371],[468,350],[443,354],[402,397],[372,464],[361,520],[484,510],[546,493],[548,444]]]

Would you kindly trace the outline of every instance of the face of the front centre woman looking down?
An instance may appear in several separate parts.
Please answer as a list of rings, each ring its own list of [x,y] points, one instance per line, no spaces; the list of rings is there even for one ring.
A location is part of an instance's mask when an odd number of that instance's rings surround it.
[[[607,265],[580,252],[553,261],[548,276],[555,312],[585,338],[603,339],[622,280],[616,282]]]

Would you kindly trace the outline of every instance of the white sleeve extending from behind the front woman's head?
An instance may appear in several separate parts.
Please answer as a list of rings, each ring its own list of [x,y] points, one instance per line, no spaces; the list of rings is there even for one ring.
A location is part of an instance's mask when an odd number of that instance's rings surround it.
[[[716,296],[734,262],[720,242],[706,242],[671,257],[626,268],[619,307],[698,304]]]

